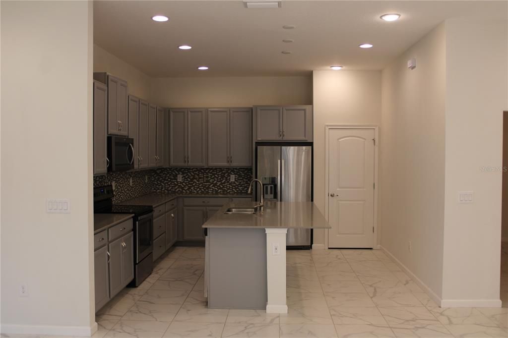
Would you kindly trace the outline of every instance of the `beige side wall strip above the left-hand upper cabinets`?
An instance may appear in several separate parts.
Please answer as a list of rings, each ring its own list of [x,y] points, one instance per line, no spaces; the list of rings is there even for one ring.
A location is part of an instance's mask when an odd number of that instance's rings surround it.
[[[93,45],[93,71],[107,72],[119,77],[127,81],[129,94],[145,100],[150,99],[151,78],[98,45]]]

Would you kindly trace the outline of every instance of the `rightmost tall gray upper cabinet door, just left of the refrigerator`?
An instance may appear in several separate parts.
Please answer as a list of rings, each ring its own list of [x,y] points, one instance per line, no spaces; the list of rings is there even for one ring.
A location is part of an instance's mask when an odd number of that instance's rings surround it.
[[[252,165],[252,110],[230,109],[230,165]]]

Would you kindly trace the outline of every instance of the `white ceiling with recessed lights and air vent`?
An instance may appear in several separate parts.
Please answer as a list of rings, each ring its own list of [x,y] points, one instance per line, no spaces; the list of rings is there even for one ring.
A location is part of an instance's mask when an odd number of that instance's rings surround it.
[[[400,20],[379,19],[393,12]],[[242,1],[96,1],[94,43],[151,77],[294,76],[333,64],[380,70],[444,19],[506,13],[504,1],[283,1],[278,9],[247,9]],[[155,14],[170,20],[152,21]],[[358,47],[365,42],[374,47]],[[183,44],[193,49],[179,50]]]

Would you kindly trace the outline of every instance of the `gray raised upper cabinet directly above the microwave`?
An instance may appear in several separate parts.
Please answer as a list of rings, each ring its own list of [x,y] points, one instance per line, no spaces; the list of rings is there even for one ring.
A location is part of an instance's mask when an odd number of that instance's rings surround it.
[[[108,86],[108,133],[128,136],[127,82],[108,73],[93,73],[93,79]]]

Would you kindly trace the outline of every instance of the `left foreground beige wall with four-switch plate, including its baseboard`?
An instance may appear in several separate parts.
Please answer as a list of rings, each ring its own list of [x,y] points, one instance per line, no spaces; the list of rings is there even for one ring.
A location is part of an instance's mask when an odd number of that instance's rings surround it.
[[[1,6],[2,332],[90,334],[91,3]]]

